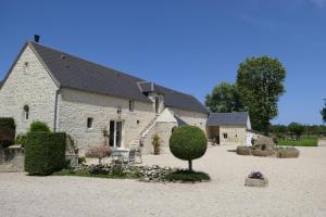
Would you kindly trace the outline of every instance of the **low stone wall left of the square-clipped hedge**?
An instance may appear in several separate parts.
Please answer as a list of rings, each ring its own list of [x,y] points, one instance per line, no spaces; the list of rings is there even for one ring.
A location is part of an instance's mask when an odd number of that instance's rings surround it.
[[[0,173],[24,171],[24,151],[21,148],[0,149]]]

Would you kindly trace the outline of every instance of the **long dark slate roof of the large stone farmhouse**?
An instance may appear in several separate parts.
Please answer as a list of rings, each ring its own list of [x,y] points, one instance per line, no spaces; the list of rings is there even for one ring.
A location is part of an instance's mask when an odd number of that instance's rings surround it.
[[[151,90],[151,87],[149,85],[143,85],[143,87],[141,85],[139,86],[141,81],[146,81],[145,79],[130,76],[33,41],[29,41],[28,43],[32,44],[32,48],[49,68],[54,79],[58,80],[60,87],[150,102],[143,92]],[[208,110],[190,94],[178,92],[155,84],[153,87],[154,91],[164,94],[164,103],[166,106],[199,113],[209,113]]]

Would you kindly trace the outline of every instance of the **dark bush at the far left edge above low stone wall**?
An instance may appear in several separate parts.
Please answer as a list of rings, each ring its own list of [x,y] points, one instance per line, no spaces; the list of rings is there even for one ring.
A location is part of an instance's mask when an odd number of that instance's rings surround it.
[[[0,148],[14,143],[15,129],[15,122],[12,117],[0,117]]]

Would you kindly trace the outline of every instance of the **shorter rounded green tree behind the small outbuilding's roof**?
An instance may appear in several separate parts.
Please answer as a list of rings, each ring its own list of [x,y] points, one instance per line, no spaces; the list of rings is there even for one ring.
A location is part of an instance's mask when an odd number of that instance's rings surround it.
[[[234,84],[222,82],[214,87],[211,94],[206,94],[205,105],[211,112],[244,111],[242,98]]]

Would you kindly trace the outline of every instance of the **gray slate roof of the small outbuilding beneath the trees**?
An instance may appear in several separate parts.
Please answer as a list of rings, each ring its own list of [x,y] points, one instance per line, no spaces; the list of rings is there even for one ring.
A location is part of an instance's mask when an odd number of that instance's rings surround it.
[[[206,126],[247,126],[248,112],[211,113]]]

